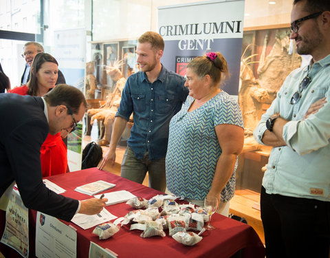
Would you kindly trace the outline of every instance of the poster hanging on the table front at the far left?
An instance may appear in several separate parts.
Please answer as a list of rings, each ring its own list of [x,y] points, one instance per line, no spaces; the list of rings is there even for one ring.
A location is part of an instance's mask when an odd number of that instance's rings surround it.
[[[22,257],[29,257],[29,215],[19,195],[12,190],[5,212],[5,230],[1,243],[17,250]]]

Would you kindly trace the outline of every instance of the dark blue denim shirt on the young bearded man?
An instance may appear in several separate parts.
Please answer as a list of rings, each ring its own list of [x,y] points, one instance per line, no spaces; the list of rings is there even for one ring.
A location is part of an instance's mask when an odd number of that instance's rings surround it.
[[[188,96],[184,82],[184,77],[164,66],[153,83],[144,72],[127,79],[115,116],[129,120],[133,112],[134,124],[127,144],[135,158],[142,159],[146,151],[150,160],[165,157],[170,118],[177,114]]]

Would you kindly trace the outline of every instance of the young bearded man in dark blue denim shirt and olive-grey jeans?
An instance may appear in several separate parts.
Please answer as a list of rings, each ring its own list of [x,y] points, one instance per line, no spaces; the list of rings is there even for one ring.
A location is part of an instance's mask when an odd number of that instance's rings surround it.
[[[108,161],[114,164],[115,147],[133,112],[134,125],[120,175],[142,184],[148,171],[149,186],[162,192],[166,190],[168,125],[188,96],[184,77],[168,71],[160,63],[163,50],[164,40],[156,32],[146,32],[138,39],[136,53],[140,72],[126,81],[109,150],[99,166],[103,169]]]

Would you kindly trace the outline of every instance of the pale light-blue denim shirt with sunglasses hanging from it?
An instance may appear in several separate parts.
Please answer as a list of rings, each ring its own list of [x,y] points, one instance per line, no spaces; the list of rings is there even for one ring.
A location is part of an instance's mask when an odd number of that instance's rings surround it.
[[[290,100],[300,82],[309,74],[311,83],[303,90],[298,103]],[[276,99],[261,117],[254,131],[260,144],[265,121],[275,113],[288,120],[283,127],[287,146],[274,147],[270,153],[263,186],[267,193],[330,201],[330,55],[308,67],[294,70],[278,91]],[[304,115],[320,98],[327,103],[316,114]]]

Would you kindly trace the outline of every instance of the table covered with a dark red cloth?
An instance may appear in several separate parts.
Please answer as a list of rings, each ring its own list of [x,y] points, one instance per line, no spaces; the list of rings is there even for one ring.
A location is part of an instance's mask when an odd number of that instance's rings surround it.
[[[97,168],[85,169],[83,171],[76,171],[66,173],[63,175],[54,175],[47,178],[48,180],[58,184],[67,191],[63,195],[73,197],[78,200],[87,199],[88,195],[74,191],[77,186],[94,182],[96,180],[104,180],[115,184],[115,188],[109,189],[105,192],[126,190],[138,197],[150,199],[151,197],[160,194],[161,192],[150,189],[142,184],[137,184],[118,175],[114,175],[107,171],[99,171]],[[113,215],[123,217],[126,213],[133,210],[131,206],[122,203],[107,206],[107,210]],[[1,216],[0,216],[1,217]],[[36,211],[30,210],[30,257],[34,257],[34,239],[33,230],[36,225]],[[83,230],[76,224],[67,223],[77,229],[77,257],[88,257],[89,242],[102,246],[102,248],[109,248],[118,254],[118,257],[232,257],[236,252],[242,250],[242,257],[258,258],[265,257],[265,248],[256,234],[254,229],[234,219],[224,217],[217,213],[212,215],[212,225],[217,229],[206,231],[203,233],[203,239],[195,246],[184,246],[172,237],[168,236],[166,230],[166,237],[140,237],[140,230],[129,230],[129,227],[123,226],[118,233],[107,240],[99,240],[98,236],[93,235],[94,228]],[[3,222],[0,219],[1,229]],[[2,233],[3,230],[0,230]],[[35,235],[35,232],[34,232]],[[3,248],[3,244],[2,248]],[[0,246],[1,251],[1,246]],[[17,252],[12,252],[12,255]],[[19,255],[17,255],[19,257]]]

